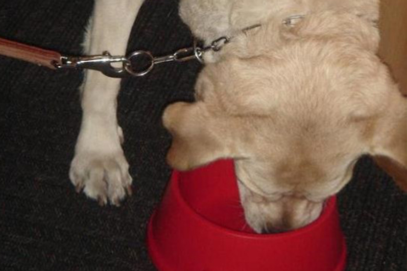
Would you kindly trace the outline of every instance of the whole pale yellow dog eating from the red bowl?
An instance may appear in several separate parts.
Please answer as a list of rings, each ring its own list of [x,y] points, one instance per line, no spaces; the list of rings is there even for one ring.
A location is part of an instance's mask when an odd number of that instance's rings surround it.
[[[164,110],[173,136],[167,162],[188,170],[234,159],[245,218],[258,233],[312,223],[362,155],[405,170],[407,103],[376,56],[378,4],[181,0],[179,14],[194,36],[206,45],[220,37],[230,42],[204,54],[196,102]],[[96,0],[85,53],[124,55],[141,5]],[[102,205],[119,205],[131,193],[118,89],[118,79],[86,71],[69,172],[77,190]]]

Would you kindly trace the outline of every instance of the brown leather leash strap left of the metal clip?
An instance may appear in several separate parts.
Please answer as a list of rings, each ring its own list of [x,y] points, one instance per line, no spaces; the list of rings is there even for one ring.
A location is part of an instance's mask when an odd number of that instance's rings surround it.
[[[58,52],[0,38],[0,55],[28,61],[40,66],[56,69],[61,64]]]

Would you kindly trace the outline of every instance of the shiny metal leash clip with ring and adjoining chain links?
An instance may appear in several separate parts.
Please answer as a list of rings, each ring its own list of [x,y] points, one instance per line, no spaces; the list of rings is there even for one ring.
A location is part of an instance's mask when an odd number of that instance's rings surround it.
[[[194,41],[193,47],[182,48],[171,55],[162,57],[154,57],[151,52],[138,50],[128,56],[112,56],[105,51],[102,55],[84,56],[84,57],[69,57],[62,56],[61,64],[55,64],[56,68],[83,68],[92,69],[102,72],[104,75],[113,78],[124,78],[129,76],[145,76],[149,73],[156,64],[166,62],[184,62],[197,59],[203,63],[203,54],[209,50],[218,52],[229,42],[229,38],[221,37],[212,41],[209,46],[200,47],[198,41]],[[143,62],[145,65],[138,67],[137,63]],[[112,64],[122,63],[122,67],[114,67]],[[133,64],[135,63],[135,64]]]

